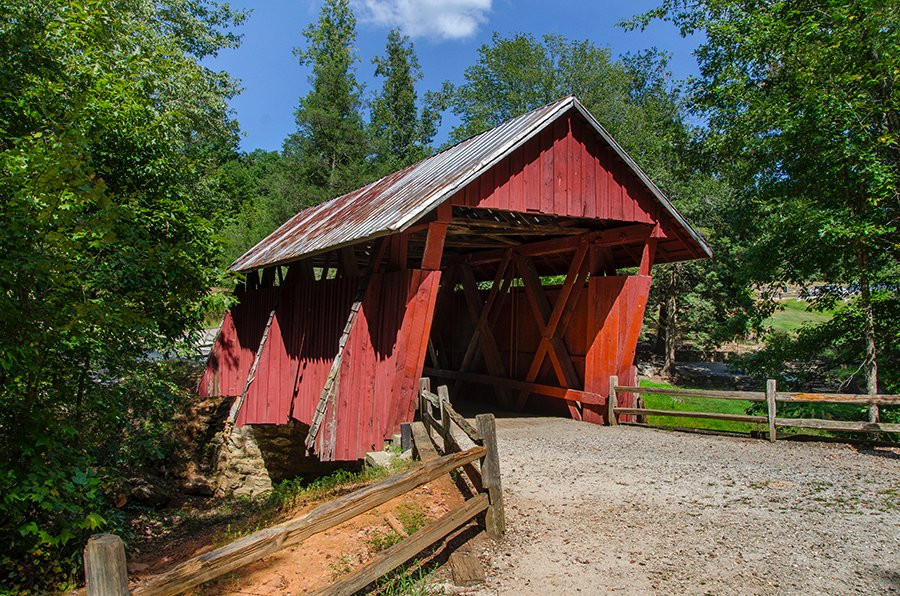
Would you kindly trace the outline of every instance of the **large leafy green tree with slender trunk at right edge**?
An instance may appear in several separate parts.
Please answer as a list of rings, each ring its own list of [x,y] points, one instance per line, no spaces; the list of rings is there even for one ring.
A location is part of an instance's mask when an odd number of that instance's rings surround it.
[[[897,300],[889,286],[900,272],[900,6],[666,0],[631,26],[654,18],[705,35],[693,105],[721,172],[758,214],[753,278],[770,293],[786,283],[858,286],[865,356],[855,364],[877,393],[873,296]],[[826,292],[819,305],[836,299]]]

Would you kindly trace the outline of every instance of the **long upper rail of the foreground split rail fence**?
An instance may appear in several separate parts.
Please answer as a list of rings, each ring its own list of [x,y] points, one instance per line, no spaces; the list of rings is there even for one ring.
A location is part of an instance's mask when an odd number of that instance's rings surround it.
[[[226,546],[188,559],[170,571],[150,578],[137,586],[132,594],[135,596],[180,594],[193,586],[258,561],[292,544],[302,542],[314,534],[333,528],[361,513],[370,511],[449,473],[451,470],[481,459],[486,453],[484,447],[473,447],[426,462],[421,466],[329,501],[298,518],[260,530]]]

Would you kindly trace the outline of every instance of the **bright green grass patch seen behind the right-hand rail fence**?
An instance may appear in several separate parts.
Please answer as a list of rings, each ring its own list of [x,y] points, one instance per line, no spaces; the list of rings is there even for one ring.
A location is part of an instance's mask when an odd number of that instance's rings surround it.
[[[641,380],[641,387],[662,387],[682,389],[668,383]],[[682,410],[688,412],[716,412],[719,414],[746,414],[753,404],[751,401],[734,399],[708,399],[705,397],[675,397],[671,395],[644,395],[644,407],[653,410]],[[682,426],[727,432],[750,433],[765,430],[765,424],[732,422],[730,420],[707,420],[700,418],[648,416],[647,423],[654,426]]]

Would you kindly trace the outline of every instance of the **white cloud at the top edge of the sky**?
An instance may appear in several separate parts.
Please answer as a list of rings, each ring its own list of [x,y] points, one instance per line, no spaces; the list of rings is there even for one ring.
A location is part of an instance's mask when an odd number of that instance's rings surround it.
[[[492,0],[360,0],[365,21],[410,37],[463,39],[487,21]]]

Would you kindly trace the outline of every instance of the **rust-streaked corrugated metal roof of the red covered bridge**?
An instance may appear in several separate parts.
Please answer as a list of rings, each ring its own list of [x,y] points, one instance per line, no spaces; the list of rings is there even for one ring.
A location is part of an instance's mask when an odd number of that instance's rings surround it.
[[[634,160],[575,97],[537,108],[462,141],[406,169],[321,205],[304,209],[229,267],[247,271],[399,232],[575,107],[634,170],[699,246],[703,238],[685,221]]]

